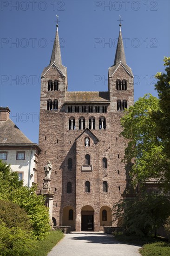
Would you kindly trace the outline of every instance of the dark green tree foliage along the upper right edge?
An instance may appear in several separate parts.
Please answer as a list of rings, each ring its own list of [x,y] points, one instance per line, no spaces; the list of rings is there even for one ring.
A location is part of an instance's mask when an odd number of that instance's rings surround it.
[[[155,77],[155,89],[159,96],[160,110],[156,112],[157,131],[163,141],[164,151],[170,159],[170,57],[164,57],[165,72],[158,72]]]

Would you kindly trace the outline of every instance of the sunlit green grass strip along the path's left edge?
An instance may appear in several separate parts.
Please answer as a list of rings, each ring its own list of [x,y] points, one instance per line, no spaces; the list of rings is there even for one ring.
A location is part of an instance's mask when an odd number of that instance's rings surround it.
[[[50,231],[49,236],[43,241],[33,241],[32,248],[29,249],[29,255],[46,256],[63,237],[63,232],[59,230]]]

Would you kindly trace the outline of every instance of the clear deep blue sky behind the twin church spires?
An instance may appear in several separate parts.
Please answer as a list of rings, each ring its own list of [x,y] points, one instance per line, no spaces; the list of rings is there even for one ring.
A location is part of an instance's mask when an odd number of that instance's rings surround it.
[[[0,106],[38,143],[40,75],[49,65],[59,15],[62,63],[69,91],[107,91],[119,33],[119,14],[135,101],[154,90],[163,57],[170,56],[168,0],[1,0]]]

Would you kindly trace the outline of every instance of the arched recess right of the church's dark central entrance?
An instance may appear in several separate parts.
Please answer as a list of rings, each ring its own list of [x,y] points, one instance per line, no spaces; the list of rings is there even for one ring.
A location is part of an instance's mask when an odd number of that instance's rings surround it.
[[[100,208],[100,226],[112,226],[111,208],[108,206]]]

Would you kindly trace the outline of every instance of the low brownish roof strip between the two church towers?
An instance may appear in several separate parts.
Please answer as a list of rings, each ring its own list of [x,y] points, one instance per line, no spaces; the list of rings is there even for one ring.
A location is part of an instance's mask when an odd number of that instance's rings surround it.
[[[110,102],[109,92],[66,92],[65,103]]]

